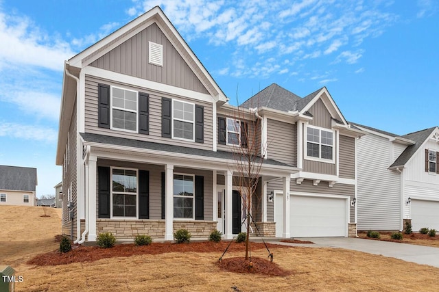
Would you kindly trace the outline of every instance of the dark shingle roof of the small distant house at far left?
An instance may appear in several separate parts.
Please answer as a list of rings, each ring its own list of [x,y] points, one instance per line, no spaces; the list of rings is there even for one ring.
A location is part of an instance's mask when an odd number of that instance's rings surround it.
[[[0,189],[35,191],[36,183],[36,168],[0,165]]]

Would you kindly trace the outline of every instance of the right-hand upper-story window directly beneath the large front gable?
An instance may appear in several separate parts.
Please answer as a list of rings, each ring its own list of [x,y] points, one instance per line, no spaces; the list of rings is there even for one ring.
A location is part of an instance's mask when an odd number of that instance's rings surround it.
[[[173,103],[174,106],[172,107],[172,137],[193,141],[193,133],[195,131],[195,105],[193,103],[185,103],[183,101],[176,100],[173,100]]]

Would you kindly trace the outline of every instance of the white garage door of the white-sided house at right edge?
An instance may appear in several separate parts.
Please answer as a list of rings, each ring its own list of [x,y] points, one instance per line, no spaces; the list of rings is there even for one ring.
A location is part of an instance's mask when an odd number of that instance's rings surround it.
[[[439,230],[439,202],[412,200],[412,230],[428,227]]]

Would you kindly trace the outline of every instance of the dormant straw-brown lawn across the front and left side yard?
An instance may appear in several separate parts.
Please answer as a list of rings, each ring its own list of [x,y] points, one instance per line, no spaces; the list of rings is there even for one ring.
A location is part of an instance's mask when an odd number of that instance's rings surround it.
[[[11,207],[0,207],[0,220]],[[217,252],[171,252],[143,254],[123,258],[105,258],[93,263],[73,263],[49,267],[26,265],[38,254],[55,250],[55,230],[60,230],[59,217],[42,215],[38,207],[17,207],[8,220],[29,220],[29,228],[45,225],[43,232],[1,229],[0,264],[13,265],[24,282],[16,283],[16,291],[438,291],[439,269],[407,263],[362,252],[331,248],[272,248],[274,262],[292,271],[290,276],[270,277],[235,274],[215,265]],[[42,213],[42,211],[40,211]],[[56,211],[54,211],[56,212]],[[49,226],[47,225],[50,225]],[[8,224],[5,224],[8,226]],[[11,235],[14,234],[14,235]],[[45,236],[43,236],[45,234]],[[5,238],[16,243],[3,245]],[[34,238],[35,237],[35,238]],[[18,240],[21,239],[21,240]],[[31,243],[29,243],[30,241]],[[40,241],[41,247],[35,243]],[[5,248],[3,248],[5,246]],[[265,258],[265,250],[252,252]],[[231,252],[226,257],[244,256]],[[233,288],[235,287],[235,288]]]

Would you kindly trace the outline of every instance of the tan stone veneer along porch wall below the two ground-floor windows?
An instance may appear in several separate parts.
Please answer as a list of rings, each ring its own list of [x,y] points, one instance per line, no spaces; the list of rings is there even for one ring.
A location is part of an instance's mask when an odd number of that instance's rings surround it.
[[[98,219],[97,234],[112,233],[117,239],[133,239],[138,234],[149,235],[152,238],[165,237],[165,220],[110,220]],[[216,221],[174,221],[174,232],[187,229],[192,237],[209,237],[216,229]]]

